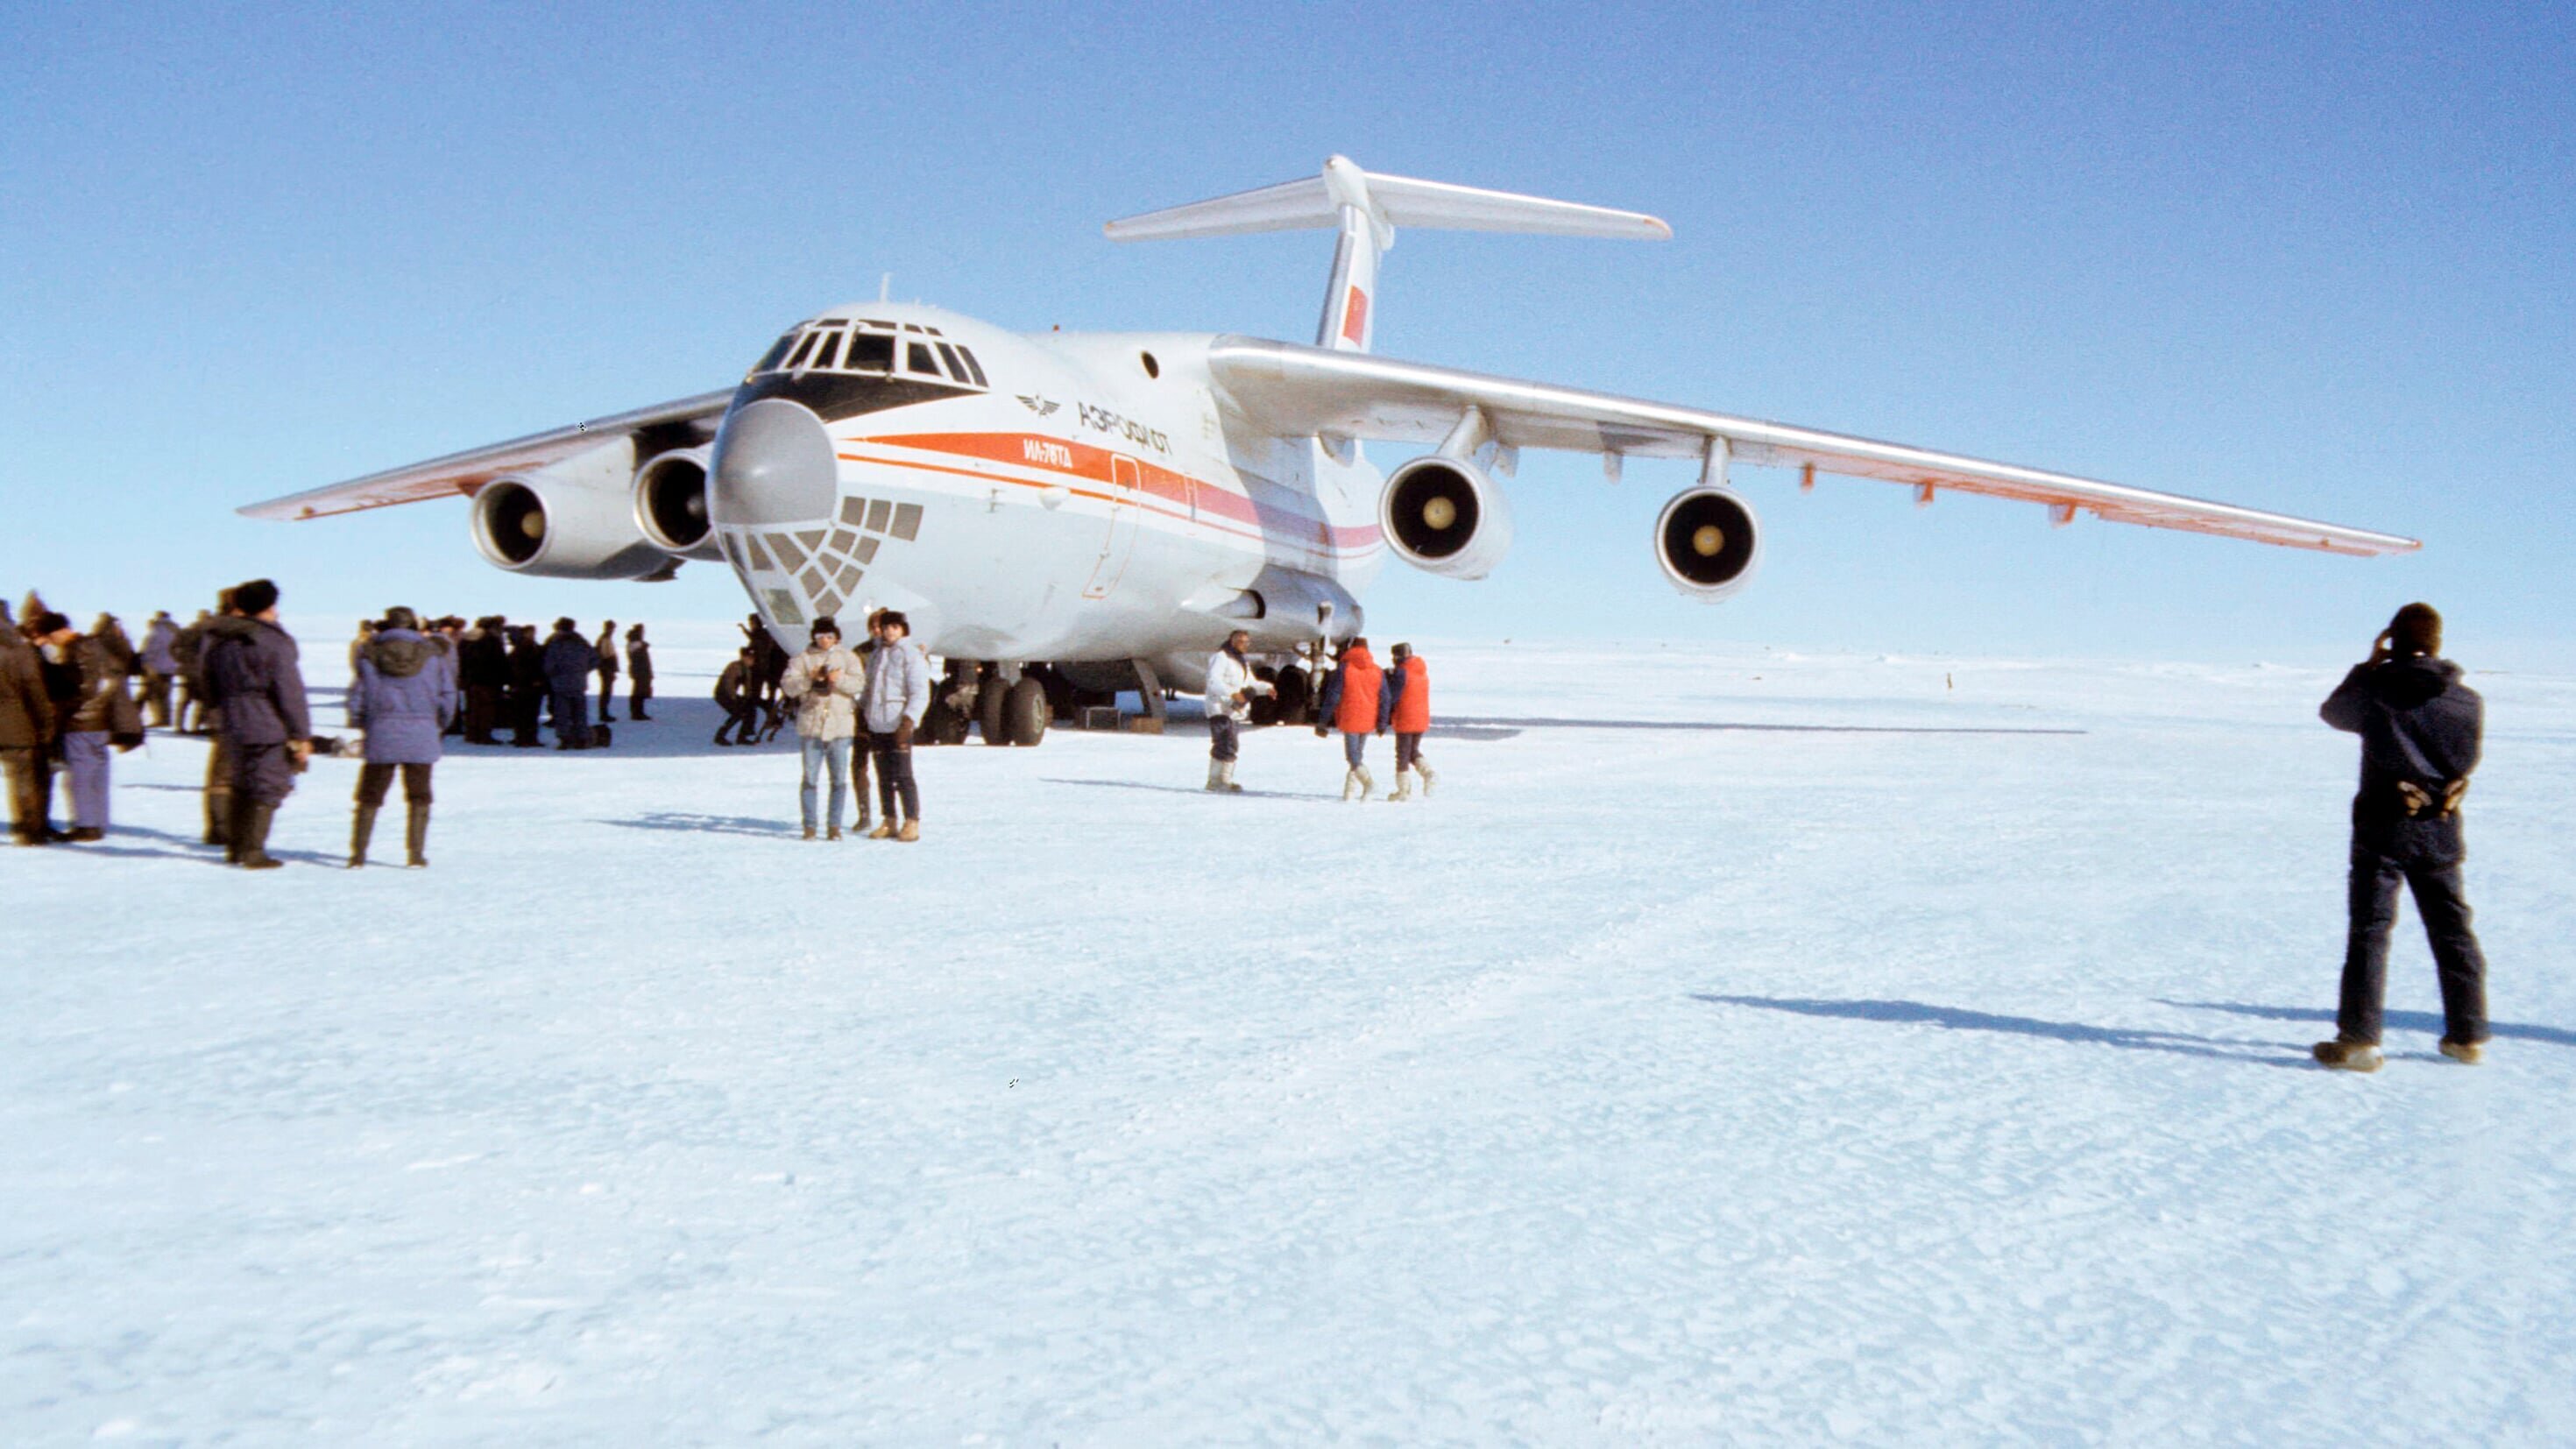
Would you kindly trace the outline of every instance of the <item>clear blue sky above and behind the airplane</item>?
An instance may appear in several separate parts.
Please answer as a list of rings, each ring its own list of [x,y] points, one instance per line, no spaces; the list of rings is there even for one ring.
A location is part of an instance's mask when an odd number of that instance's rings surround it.
[[[1396,566],[1381,631],[2331,659],[2427,597],[2458,654],[2571,664],[2571,80],[2561,5],[10,5],[0,589],[734,615],[703,564],[500,574],[464,504],[232,507],[726,386],[884,270],[1023,329],[1303,340],[1329,237],[1100,221],[1347,152],[1674,226],[1406,232],[1388,355],[2427,540],[1747,471],[1765,574],[1703,607],[1646,553],[1685,466],[1530,456],[1502,571]]]

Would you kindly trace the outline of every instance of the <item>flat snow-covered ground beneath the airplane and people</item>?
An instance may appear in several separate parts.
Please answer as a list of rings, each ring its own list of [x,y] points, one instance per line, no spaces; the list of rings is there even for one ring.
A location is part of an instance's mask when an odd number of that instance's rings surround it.
[[[2473,679],[2491,1066],[2409,911],[2349,1078],[2326,672],[1425,649],[1430,803],[1054,734],[904,847],[683,643],[430,872],[337,759],[216,870],[178,739],[0,852],[0,1439],[2576,1439],[2571,679]]]

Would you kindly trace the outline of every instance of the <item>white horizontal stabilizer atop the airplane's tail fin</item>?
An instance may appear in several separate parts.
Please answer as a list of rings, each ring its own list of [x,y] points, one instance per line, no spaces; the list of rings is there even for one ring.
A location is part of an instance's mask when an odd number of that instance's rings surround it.
[[[1144,216],[1110,221],[1105,232],[1113,242],[1311,232],[1340,226],[1345,206],[1368,211],[1378,226],[1625,237],[1636,242],[1672,239],[1672,226],[1641,211],[1613,211],[1577,201],[1548,201],[1546,196],[1515,196],[1510,190],[1481,190],[1445,180],[1381,175],[1360,170],[1350,157],[1332,157],[1324,162],[1321,175],[1306,180],[1283,180],[1260,190],[1146,211]]]

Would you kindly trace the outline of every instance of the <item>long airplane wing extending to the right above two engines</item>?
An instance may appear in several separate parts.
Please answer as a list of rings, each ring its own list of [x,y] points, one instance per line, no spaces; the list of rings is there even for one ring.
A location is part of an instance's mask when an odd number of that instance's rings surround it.
[[[1940,489],[1955,489],[2050,504],[2058,522],[2071,522],[2081,510],[2110,522],[2218,533],[2326,553],[2378,556],[2421,548],[2414,538],[2339,522],[1368,353],[1218,337],[1208,350],[1208,365],[1244,417],[1283,438],[1340,435],[1437,445],[1473,407],[1484,412],[1494,440],[1507,448],[1605,453],[1615,463],[1620,456],[1703,458],[1710,440],[1723,438],[1728,456],[1741,463],[1803,468],[1808,479],[1821,471],[1909,484],[1924,502]]]

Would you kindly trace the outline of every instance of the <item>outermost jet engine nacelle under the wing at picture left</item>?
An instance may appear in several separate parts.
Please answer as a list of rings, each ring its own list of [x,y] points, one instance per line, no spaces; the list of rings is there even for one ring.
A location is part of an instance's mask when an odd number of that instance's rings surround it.
[[[474,494],[474,548],[495,569],[541,579],[641,579],[670,553],[636,528],[634,443],[618,438]]]

